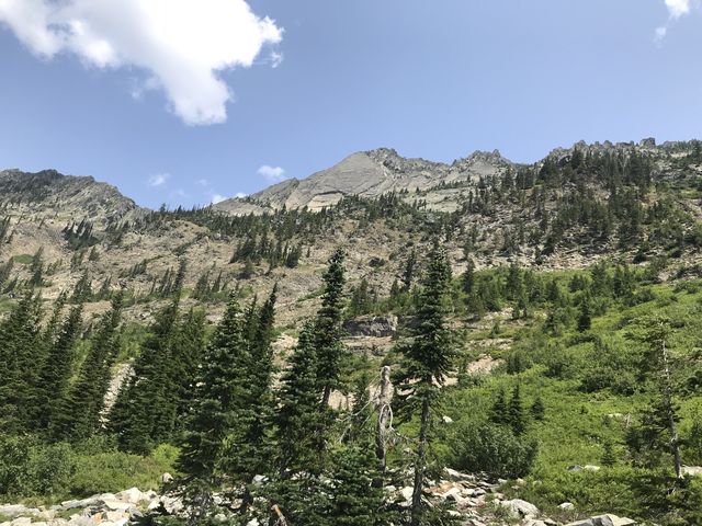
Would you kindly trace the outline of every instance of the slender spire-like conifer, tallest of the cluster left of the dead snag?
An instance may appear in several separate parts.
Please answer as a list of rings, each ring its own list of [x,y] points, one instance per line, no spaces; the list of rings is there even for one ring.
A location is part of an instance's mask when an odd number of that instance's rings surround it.
[[[325,272],[321,308],[314,321],[314,346],[317,359],[317,381],[321,390],[321,405],[329,403],[331,391],[339,387],[341,367],[348,351],[341,341],[343,319],[343,252],[337,250]]]

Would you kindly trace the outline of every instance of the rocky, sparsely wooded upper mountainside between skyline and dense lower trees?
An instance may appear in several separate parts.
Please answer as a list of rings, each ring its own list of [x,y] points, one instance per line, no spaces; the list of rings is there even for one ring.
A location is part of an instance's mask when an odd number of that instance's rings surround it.
[[[478,268],[510,261],[574,268],[613,254],[645,261],[679,239],[677,255],[687,264],[699,259],[702,217],[695,145],[578,144],[533,165],[498,152],[444,164],[378,149],[245,199],[174,213],[140,208],[92,178],[4,171],[0,261],[14,259],[11,277],[21,284],[42,249],[44,264],[53,265],[45,298],[70,290],[88,273],[94,290],[105,282],[126,287],[137,300],[128,316],[146,319],[158,300],[155,284],[184,260],[190,290],[204,275],[219,275],[244,294],[265,294],[280,283],[281,322],[291,328],[314,310],[319,271],[339,244],[348,252],[350,283],[365,279],[380,297],[401,277],[412,248],[421,254],[437,235],[455,273],[466,267],[467,254]],[[630,236],[632,215],[641,217]],[[275,243],[295,247],[298,262],[272,264]],[[105,306],[95,301],[88,310]],[[216,317],[218,309],[208,311]]]

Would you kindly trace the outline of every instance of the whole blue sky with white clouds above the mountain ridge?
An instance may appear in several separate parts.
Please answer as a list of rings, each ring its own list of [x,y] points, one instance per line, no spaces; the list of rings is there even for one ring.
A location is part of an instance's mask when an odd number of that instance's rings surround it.
[[[381,146],[532,162],[702,137],[695,0],[52,2],[0,0],[0,167],[93,175],[146,206]]]

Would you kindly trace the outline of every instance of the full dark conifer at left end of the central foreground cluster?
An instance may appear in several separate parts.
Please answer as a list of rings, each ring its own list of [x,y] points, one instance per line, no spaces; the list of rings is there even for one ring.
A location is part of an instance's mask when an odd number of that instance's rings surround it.
[[[195,396],[179,458],[181,490],[192,506],[190,524],[199,524],[213,506],[220,485],[226,439],[242,403],[246,345],[239,305],[233,296],[202,358]]]

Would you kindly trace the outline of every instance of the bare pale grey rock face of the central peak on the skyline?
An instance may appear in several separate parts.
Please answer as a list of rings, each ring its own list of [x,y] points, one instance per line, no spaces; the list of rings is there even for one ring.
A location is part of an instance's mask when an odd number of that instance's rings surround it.
[[[498,152],[476,152],[452,164],[405,159],[392,149],[353,153],[338,164],[304,180],[290,179],[245,199],[216,205],[230,214],[261,213],[280,208],[319,210],[342,197],[376,197],[389,192],[423,191],[457,181],[477,180],[501,173],[511,163]]]

